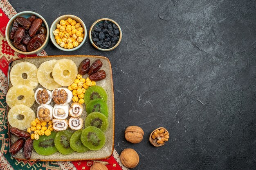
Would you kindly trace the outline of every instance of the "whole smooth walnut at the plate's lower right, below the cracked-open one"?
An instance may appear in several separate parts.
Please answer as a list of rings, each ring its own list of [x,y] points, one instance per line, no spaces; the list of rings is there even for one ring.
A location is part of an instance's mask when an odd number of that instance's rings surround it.
[[[139,163],[139,155],[132,148],[127,148],[120,155],[121,162],[127,168],[135,168]]]

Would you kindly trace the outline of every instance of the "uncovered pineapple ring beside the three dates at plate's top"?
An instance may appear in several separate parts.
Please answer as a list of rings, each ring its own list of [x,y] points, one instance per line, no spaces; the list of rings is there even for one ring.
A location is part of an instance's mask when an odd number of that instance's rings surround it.
[[[52,70],[54,81],[62,86],[69,86],[74,82],[77,75],[77,67],[70,59],[58,60]]]

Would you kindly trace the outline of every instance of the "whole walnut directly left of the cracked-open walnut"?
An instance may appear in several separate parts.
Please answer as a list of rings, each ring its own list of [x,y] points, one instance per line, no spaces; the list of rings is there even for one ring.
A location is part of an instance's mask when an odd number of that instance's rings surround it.
[[[133,144],[141,142],[144,135],[144,131],[139,126],[128,126],[124,133],[126,140]]]

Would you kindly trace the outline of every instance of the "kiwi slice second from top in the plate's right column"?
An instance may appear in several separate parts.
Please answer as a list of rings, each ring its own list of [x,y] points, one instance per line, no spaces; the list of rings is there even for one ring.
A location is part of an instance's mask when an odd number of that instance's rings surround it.
[[[86,105],[85,109],[86,109],[87,114],[97,111],[97,112],[102,113],[106,117],[108,117],[108,105],[107,105],[106,101],[104,101],[100,98],[91,100]]]

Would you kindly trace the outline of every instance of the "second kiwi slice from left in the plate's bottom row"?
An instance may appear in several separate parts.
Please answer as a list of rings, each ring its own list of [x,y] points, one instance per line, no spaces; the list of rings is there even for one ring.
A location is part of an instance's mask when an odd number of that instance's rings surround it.
[[[71,136],[71,131],[60,131],[55,136],[54,145],[63,155],[68,155],[74,152],[74,150],[70,147]]]

